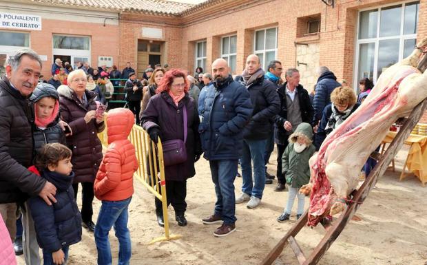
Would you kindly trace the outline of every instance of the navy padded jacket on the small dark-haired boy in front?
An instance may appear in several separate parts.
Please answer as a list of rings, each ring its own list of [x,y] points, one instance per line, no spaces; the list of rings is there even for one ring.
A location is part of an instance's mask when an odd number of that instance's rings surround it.
[[[65,176],[45,170],[41,177],[56,187],[56,203],[49,206],[41,197],[35,196],[28,200],[28,205],[37,242],[40,248],[52,253],[81,241],[81,215],[71,186],[74,173]]]

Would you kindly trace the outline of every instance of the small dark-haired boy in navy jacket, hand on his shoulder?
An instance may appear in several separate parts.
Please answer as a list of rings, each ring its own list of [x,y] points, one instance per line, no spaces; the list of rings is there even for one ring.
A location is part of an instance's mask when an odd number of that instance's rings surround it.
[[[81,215],[72,189],[72,151],[59,143],[41,147],[30,171],[56,187],[56,203],[52,205],[39,196],[28,200],[34,220],[37,242],[43,249],[43,264],[65,264],[68,249],[81,241]]]

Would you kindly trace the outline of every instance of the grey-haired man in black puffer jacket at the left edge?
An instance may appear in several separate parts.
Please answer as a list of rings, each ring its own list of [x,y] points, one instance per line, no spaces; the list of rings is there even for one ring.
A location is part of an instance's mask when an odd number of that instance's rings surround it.
[[[29,97],[39,81],[41,65],[33,50],[19,50],[10,56],[6,76],[0,80],[0,213],[12,241],[17,202],[24,202],[28,195],[40,195],[49,205],[50,200],[56,202],[54,185],[27,170],[32,164],[34,122]]]

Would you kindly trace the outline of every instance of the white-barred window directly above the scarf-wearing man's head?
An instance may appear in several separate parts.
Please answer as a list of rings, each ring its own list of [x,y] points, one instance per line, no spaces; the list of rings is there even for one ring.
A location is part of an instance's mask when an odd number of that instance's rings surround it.
[[[260,57],[264,69],[270,61],[275,60],[278,51],[278,28],[257,30],[254,36],[254,54]]]

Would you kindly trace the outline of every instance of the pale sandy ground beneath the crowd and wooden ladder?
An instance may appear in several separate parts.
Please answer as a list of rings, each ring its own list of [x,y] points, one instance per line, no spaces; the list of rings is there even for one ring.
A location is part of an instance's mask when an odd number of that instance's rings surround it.
[[[357,211],[362,221],[351,221],[333,243],[319,264],[347,265],[427,265],[427,187],[421,187],[417,178],[410,176],[399,182],[406,152],[396,158],[397,172],[387,171]],[[271,157],[269,172],[275,172],[275,154]],[[202,224],[213,212],[216,200],[209,171],[209,163],[200,159],[196,164],[197,175],[187,184],[188,226],[180,227],[169,208],[171,233],[182,235],[179,240],[148,243],[163,235],[156,223],[154,197],[139,182],[129,209],[129,229],[132,235],[131,264],[260,264],[271,248],[295,224],[291,220],[279,223],[275,218],[283,211],[287,192],[275,192],[276,181],[266,185],[262,204],[247,209],[245,204],[236,206],[237,231],[228,237],[217,238],[213,231],[218,224]],[[236,194],[240,193],[241,178],[237,178]],[[306,207],[309,200],[306,198]],[[295,202],[296,204],[296,202]],[[100,202],[94,200],[94,216]],[[296,205],[295,205],[296,207]],[[295,208],[294,208],[295,210]],[[169,219],[169,220],[170,220]],[[94,218],[96,221],[96,218]],[[322,226],[302,229],[296,237],[306,255],[319,242],[325,231]],[[118,243],[114,231],[110,233],[113,264],[117,264]],[[19,264],[25,264],[22,256]],[[71,246],[68,264],[96,264],[96,246],[92,233],[83,229],[79,244]],[[290,248],[285,248],[275,265],[298,264]]]

